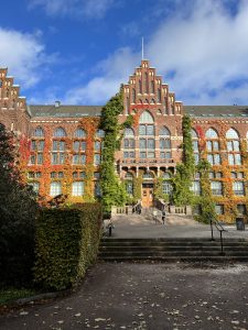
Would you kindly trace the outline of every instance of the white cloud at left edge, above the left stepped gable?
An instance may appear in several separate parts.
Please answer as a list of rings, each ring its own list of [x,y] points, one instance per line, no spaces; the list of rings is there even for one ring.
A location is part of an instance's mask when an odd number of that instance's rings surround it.
[[[0,28],[0,66],[8,67],[9,75],[15,76],[24,88],[35,85],[44,73],[42,65],[53,59],[44,48],[40,32],[26,34]]]

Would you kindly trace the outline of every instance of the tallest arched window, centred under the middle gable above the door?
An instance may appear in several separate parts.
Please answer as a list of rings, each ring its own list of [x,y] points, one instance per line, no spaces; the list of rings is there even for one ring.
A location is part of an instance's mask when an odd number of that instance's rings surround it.
[[[149,111],[144,111],[140,117],[139,135],[140,158],[154,158],[154,120]]]

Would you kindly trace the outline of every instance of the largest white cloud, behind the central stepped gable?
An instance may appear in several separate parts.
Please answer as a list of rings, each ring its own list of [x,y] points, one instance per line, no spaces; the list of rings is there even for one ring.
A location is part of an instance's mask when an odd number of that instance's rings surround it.
[[[185,105],[247,105],[248,2],[239,1],[235,15],[225,1],[194,0],[191,4],[186,11],[179,7],[151,34],[145,45],[151,65]],[[65,100],[105,103],[139,64],[140,54],[117,50],[97,65],[96,77],[72,88]]]

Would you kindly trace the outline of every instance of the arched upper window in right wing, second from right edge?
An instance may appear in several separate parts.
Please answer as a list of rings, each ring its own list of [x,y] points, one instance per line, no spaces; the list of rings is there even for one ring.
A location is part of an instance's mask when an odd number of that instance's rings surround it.
[[[217,131],[213,128],[208,129],[205,138],[208,163],[211,163],[211,165],[220,165],[222,160],[219,154],[219,138]]]

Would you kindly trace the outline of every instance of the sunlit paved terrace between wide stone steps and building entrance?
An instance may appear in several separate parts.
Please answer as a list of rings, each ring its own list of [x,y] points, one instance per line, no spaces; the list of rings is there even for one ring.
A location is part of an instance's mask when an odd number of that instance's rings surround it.
[[[155,222],[147,215],[123,215],[112,218],[112,238],[211,238],[211,227],[188,216],[168,215],[165,224]],[[247,238],[248,230],[239,231],[236,226],[224,226],[224,238]],[[214,228],[215,238],[219,238]]]

